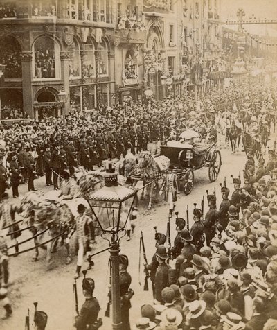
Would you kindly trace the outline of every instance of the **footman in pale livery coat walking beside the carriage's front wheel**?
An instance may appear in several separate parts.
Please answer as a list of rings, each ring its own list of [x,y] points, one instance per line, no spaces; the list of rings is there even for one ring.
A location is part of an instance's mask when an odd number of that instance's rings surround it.
[[[177,190],[178,182],[177,176],[173,173],[173,165],[168,168],[168,174],[163,178],[163,183],[161,184],[160,195],[165,189],[165,200],[169,203],[169,216],[172,217],[172,212],[175,207],[175,202],[177,202]]]

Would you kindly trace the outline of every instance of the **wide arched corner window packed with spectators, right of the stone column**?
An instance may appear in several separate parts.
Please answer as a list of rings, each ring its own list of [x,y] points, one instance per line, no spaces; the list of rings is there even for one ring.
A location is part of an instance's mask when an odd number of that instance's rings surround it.
[[[33,78],[60,78],[60,46],[51,37],[39,37],[33,45]]]

